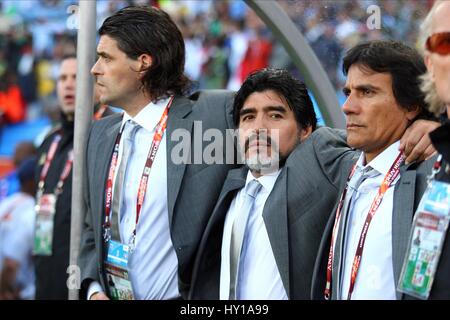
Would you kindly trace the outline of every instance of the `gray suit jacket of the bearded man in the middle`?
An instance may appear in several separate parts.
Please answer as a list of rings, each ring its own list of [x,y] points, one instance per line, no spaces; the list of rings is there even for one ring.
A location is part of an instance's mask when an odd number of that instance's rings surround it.
[[[338,134],[340,133],[340,134]],[[316,253],[342,177],[356,160],[342,132],[317,129],[290,155],[266,201],[263,218],[290,299],[308,299]],[[191,299],[218,299],[223,225],[247,169],[231,170],[202,238]]]

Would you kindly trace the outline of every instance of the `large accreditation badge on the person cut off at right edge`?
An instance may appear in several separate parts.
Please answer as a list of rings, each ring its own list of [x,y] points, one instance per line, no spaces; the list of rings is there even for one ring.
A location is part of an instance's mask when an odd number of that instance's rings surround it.
[[[430,295],[450,219],[450,184],[431,181],[414,216],[398,290],[420,299]]]

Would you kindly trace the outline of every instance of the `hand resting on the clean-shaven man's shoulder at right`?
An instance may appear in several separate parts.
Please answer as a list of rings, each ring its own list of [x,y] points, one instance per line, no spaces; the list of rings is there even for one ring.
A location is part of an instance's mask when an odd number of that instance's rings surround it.
[[[440,125],[439,122],[416,120],[406,129],[399,148],[406,155],[406,164],[427,160],[436,154],[429,133]]]

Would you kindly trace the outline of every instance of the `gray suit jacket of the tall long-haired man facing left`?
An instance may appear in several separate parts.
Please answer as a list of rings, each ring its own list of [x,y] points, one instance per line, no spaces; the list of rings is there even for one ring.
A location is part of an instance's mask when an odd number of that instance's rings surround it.
[[[192,266],[198,243],[220,193],[229,169],[234,165],[174,164],[171,152],[179,141],[170,137],[175,129],[191,134],[187,155],[193,156],[194,138],[207,129],[218,129],[225,135],[232,128],[234,94],[223,90],[200,92],[189,99],[175,97],[169,110],[167,141],[167,195],[171,238],[178,258],[179,289],[183,297],[189,290]],[[81,239],[79,265],[81,267],[81,298],[92,280],[104,281],[104,241],[102,224],[105,219],[105,185],[114,141],[122,114],[106,117],[91,128],[87,145],[87,170],[84,198],[86,218]],[[194,124],[194,121],[200,121]],[[201,124],[200,124],[201,123]],[[201,128],[200,128],[201,126]],[[201,131],[203,130],[203,131]],[[209,143],[203,142],[203,147]],[[225,145],[225,144],[224,144]],[[203,150],[203,149],[202,149]],[[225,153],[225,150],[223,151]]]

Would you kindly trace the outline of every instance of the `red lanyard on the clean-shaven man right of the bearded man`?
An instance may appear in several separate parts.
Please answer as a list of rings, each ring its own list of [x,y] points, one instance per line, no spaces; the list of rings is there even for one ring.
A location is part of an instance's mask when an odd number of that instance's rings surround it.
[[[391,168],[389,169],[389,172],[384,177],[384,180],[381,183],[380,188],[378,189],[378,193],[375,196],[375,199],[373,200],[372,205],[370,206],[369,212],[366,217],[366,221],[364,223],[363,229],[361,231],[361,235],[359,237],[358,247],[356,249],[355,257],[353,259],[352,273],[351,273],[351,277],[350,277],[350,287],[349,287],[349,292],[348,292],[348,296],[347,296],[348,300],[350,300],[351,295],[353,293],[353,289],[355,287],[356,277],[358,275],[359,266],[360,266],[361,258],[362,258],[362,253],[364,250],[364,244],[366,241],[366,236],[367,236],[367,232],[369,230],[370,223],[372,222],[372,218],[375,216],[375,213],[376,213],[378,207],[380,206],[381,201],[383,200],[384,194],[389,189],[389,187],[392,186],[395,179],[397,179],[398,175],[400,174],[400,165],[404,160],[405,160],[405,155],[403,153],[400,153],[397,156],[397,159],[392,164]],[[324,293],[325,299],[327,299],[327,300],[330,298],[330,295],[331,295],[331,277],[332,277],[332,268],[333,268],[334,239],[336,236],[337,226],[339,225],[339,219],[341,216],[341,210],[342,210],[342,206],[344,204],[345,195],[347,193],[348,182],[350,181],[351,177],[353,176],[353,174],[355,172],[355,167],[356,167],[356,165],[353,166],[352,171],[347,179],[347,186],[345,187],[345,190],[342,193],[341,199],[339,200],[339,205],[338,205],[338,209],[336,211],[336,217],[334,220],[333,233],[331,235],[330,252],[328,254],[327,283],[325,286],[325,293]]]

